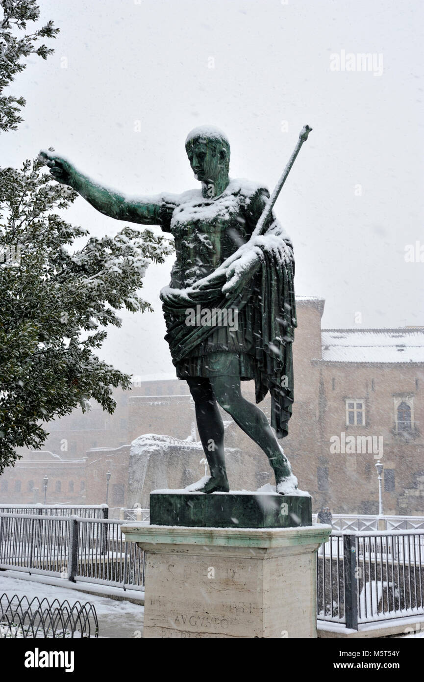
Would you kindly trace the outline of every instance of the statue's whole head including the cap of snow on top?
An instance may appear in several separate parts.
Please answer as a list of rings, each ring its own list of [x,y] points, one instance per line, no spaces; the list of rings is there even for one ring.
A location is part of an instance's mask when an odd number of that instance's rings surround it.
[[[222,130],[215,128],[214,125],[200,125],[194,128],[185,140],[185,151],[194,177],[202,184],[212,186],[228,184],[230,143]]]

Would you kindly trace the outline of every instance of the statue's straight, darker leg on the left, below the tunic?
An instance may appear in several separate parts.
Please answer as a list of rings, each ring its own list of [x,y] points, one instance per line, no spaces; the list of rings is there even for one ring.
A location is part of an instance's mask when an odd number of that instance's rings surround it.
[[[209,379],[191,376],[187,379],[194,400],[200,441],[211,471],[211,478],[200,492],[228,492],[224,453],[224,424]]]

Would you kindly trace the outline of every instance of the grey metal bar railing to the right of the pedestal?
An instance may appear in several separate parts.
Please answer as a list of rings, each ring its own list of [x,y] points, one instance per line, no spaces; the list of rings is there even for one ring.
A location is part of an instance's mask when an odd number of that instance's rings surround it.
[[[317,554],[318,619],[361,623],[424,614],[424,531],[333,531]]]

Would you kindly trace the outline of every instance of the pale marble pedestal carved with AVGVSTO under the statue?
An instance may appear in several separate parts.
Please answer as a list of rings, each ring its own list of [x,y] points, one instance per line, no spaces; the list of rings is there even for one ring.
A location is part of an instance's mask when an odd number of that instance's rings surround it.
[[[145,638],[316,637],[316,551],[331,527],[121,527],[146,552]]]

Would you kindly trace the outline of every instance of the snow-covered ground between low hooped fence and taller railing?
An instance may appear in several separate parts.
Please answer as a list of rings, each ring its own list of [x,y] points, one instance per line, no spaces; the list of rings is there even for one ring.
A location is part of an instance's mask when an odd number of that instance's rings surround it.
[[[31,576],[32,577],[32,576]],[[34,576],[35,577],[35,576]],[[40,576],[36,576],[40,578]],[[0,573],[0,595],[6,593],[9,597],[26,595],[29,599],[46,597],[49,601],[68,599],[70,604],[74,602],[89,602],[93,604],[99,621],[99,636],[110,638],[133,638],[142,636],[142,624],[144,607],[133,604],[126,599],[118,601],[108,597],[91,595],[87,592],[78,591],[67,587],[67,584],[50,585],[40,580],[16,578],[7,573]],[[142,595],[140,595],[141,597]]]

